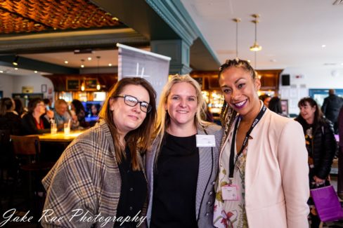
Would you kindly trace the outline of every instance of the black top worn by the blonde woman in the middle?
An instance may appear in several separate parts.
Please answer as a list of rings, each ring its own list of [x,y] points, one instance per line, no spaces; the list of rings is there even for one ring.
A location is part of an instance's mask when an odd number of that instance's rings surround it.
[[[154,172],[150,227],[198,227],[195,216],[198,170],[195,135],[166,134]]]

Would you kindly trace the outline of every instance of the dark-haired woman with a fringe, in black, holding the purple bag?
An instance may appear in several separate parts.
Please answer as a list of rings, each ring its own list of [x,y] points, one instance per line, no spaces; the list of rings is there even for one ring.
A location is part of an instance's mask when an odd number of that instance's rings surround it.
[[[299,116],[295,119],[304,130],[309,162],[309,187],[330,185],[330,169],[337,144],[332,123],[325,119],[313,98],[299,100]],[[312,199],[309,199],[311,227],[319,227],[319,219]]]

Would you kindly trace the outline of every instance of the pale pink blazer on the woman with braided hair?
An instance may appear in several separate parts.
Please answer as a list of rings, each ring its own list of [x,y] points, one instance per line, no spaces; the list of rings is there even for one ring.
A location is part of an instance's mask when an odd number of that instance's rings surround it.
[[[247,150],[245,209],[249,227],[309,227],[307,156],[302,126],[266,109],[250,134]]]

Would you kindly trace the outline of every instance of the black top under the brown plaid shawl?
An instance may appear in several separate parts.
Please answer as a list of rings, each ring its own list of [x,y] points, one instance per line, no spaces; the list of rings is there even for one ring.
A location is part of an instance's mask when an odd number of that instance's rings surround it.
[[[131,166],[131,154],[129,148],[125,149],[127,159],[122,159],[118,164],[120,177],[122,178],[122,188],[120,189],[119,203],[116,217],[133,218],[143,209],[143,204],[147,199],[147,182],[142,170],[134,171]],[[140,214],[137,217],[141,216]],[[115,222],[114,227],[136,227],[138,222]]]

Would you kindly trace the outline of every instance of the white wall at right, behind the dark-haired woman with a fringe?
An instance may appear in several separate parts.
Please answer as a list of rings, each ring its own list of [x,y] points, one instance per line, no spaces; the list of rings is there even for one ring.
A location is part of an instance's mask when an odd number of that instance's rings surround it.
[[[290,114],[299,114],[297,104],[309,96],[309,89],[343,88],[343,67],[289,67],[282,74],[290,74],[290,86],[282,86],[281,79],[279,85],[280,98],[288,100]]]

